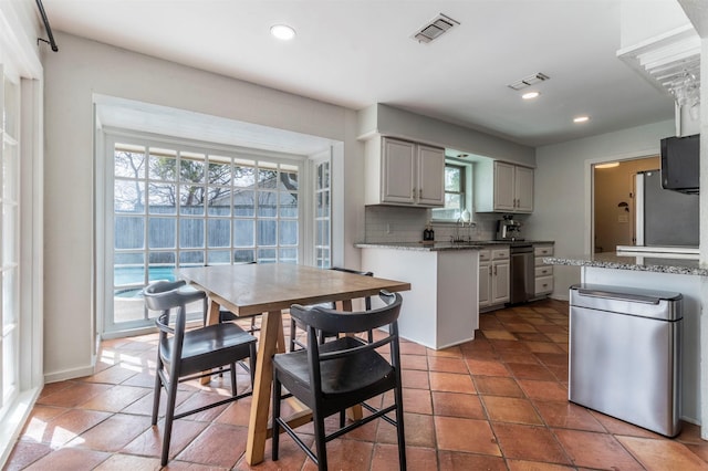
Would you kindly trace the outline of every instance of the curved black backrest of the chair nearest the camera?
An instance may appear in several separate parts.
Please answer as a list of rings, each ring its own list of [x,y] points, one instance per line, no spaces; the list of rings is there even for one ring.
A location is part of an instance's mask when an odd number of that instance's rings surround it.
[[[293,304],[290,315],[301,321],[305,326],[324,332],[340,332],[353,334],[372,331],[396,322],[400,313],[403,301],[398,293],[381,292],[383,307],[368,311],[348,312],[326,308],[322,305],[302,306]],[[310,331],[310,328],[309,328]]]

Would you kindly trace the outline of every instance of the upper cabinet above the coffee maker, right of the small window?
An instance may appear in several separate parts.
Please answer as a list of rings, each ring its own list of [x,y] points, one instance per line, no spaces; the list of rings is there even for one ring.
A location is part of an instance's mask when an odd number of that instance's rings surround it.
[[[475,210],[532,212],[533,169],[497,160],[476,165]]]

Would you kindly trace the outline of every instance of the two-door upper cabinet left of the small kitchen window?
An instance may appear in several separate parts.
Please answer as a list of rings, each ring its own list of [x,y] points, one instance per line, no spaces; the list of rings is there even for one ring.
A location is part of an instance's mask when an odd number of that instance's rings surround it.
[[[365,158],[366,205],[445,206],[445,149],[376,136]]]

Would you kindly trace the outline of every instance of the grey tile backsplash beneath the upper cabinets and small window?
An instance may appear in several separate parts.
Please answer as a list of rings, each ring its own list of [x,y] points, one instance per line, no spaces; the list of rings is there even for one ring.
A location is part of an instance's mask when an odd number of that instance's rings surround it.
[[[418,242],[430,219],[430,210],[394,206],[366,207],[366,242]],[[473,227],[456,228],[454,224],[433,224],[435,240],[447,241],[459,236],[471,240],[492,240],[497,234],[497,220],[501,214],[475,213]]]

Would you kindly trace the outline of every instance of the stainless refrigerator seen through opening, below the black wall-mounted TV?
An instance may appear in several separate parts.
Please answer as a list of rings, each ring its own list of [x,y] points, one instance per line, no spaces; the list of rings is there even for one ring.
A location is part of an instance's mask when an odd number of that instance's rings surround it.
[[[698,195],[662,188],[659,170],[636,177],[636,244],[698,247]]]

